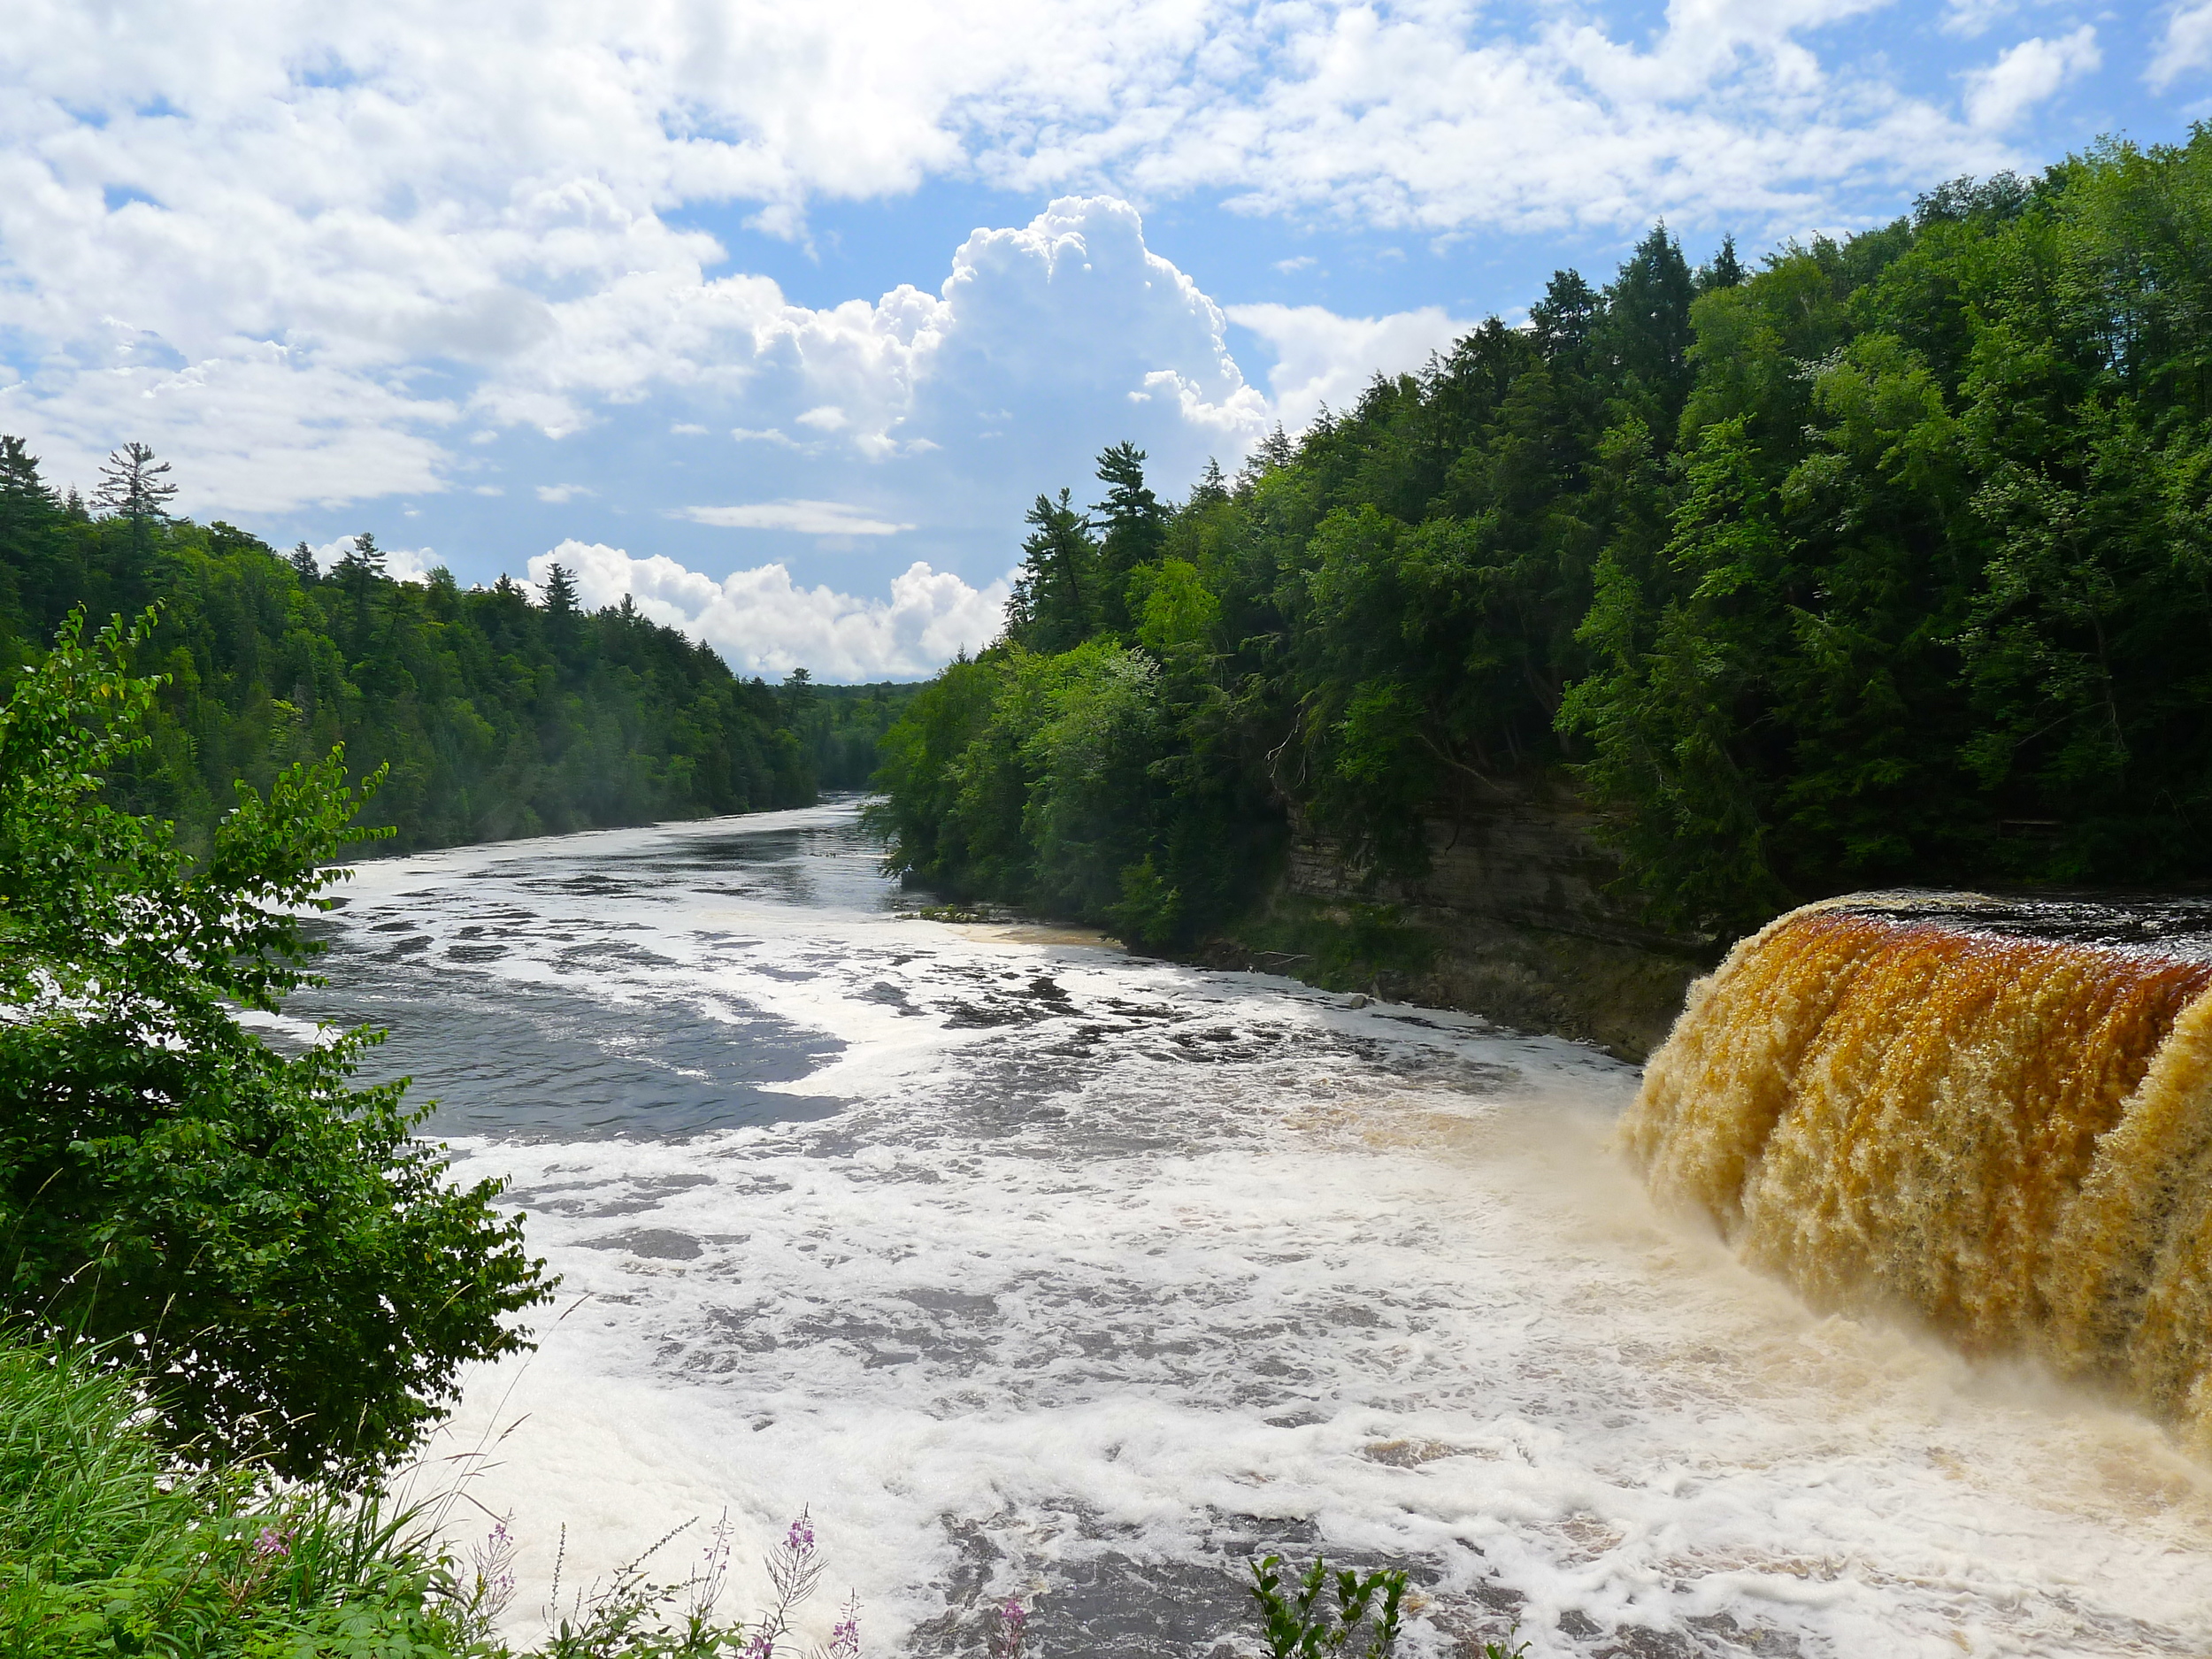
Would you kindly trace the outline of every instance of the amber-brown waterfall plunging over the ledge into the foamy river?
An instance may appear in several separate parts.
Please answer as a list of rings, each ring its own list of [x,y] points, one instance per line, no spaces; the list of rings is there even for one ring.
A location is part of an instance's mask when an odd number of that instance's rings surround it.
[[[1692,989],[1619,1137],[1814,1307],[2042,1358],[2212,1451],[2212,907],[1792,911]]]

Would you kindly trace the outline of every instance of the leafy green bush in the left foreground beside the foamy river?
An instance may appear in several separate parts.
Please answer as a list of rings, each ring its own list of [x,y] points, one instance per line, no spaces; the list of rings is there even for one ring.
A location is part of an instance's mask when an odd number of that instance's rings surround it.
[[[146,745],[153,628],[71,615],[0,710],[0,1312],[128,1356],[206,1462],[358,1480],[549,1296],[495,1181],[456,1188],[374,1031],[296,1060],[237,1009],[307,980],[358,799],[343,754],[237,785],[204,858],[102,799]],[[369,781],[374,785],[374,779]]]

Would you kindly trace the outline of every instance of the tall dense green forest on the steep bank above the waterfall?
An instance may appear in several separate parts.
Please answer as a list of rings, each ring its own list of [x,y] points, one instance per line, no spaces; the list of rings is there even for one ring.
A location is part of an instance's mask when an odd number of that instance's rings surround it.
[[[1148,945],[1533,779],[1670,927],[2212,876],[2212,131],[1692,270],[1652,230],[1179,504],[1040,495],[894,860]]]

